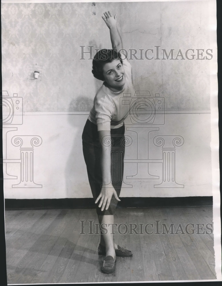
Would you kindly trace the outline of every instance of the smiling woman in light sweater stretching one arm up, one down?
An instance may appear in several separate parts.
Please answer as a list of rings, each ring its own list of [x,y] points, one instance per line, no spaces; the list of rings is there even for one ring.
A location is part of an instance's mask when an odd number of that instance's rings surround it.
[[[92,62],[94,77],[104,82],[94,98],[94,105],[83,130],[82,144],[100,223],[98,253],[106,255],[101,270],[112,273],[115,270],[116,256],[132,256],[131,251],[114,244],[112,224],[117,202],[120,201],[124,119],[129,113],[129,106],[121,105],[121,98],[123,93],[132,93],[134,90],[131,65],[125,55],[118,52],[122,49],[122,40],[116,25],[116,15],[112,17],[108,11],[102,19],[110,29],[112,49],[98,51]]]

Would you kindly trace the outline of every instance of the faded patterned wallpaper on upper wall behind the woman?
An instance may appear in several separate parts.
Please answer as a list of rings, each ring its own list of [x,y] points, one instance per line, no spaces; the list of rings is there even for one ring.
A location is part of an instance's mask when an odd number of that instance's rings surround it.
[[[23,110],[88,111],[102,84],[80,45],[111,48],[101,16],[118,15],[124,48],[206,49],[207,2],[2,3],[2,81],[9,95],[23,97]],[[87,49],[88,50],[88,49]],[[93,51],[92,56],[95,52]],[[191,53],[190,53],[191,54]],[[197,51],[195,50],[195,55]],[[151,53],[147,54],[151,57]],[[144,55],[143,55],[144,57]],[[161,56],[162,57],[162,56]],[[209,60],[130,60],[138,90],[160,93],[167,110],[206,110],[210,104]],[[38,80],[34,70],[40,71]]]

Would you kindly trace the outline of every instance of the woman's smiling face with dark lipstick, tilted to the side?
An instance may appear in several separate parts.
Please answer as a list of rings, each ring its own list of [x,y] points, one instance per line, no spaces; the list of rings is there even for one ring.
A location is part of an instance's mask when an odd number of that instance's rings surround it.
[[[126,82],[125,70],[119,59],[104,64],[103,76],[108,87],[114,90],[121,90]]]

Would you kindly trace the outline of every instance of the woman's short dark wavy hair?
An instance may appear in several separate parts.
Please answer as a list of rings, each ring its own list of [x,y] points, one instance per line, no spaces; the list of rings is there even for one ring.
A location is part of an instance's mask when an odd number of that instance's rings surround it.
[[[92,73],[98,80],[103,80],[103,66],[105,63],[110,63],[114,59],[119,59],[122,63],[120,52],[116,49],[101,49],[96,53],[92,60]]]

